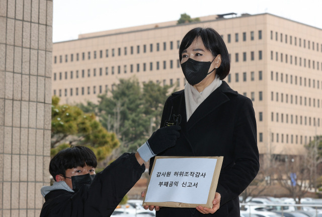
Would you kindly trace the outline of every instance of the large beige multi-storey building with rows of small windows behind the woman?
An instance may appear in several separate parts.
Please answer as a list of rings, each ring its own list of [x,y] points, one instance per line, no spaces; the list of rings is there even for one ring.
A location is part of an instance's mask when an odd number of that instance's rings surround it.
[[[62,103],[95,102],[118,79],[133,76],[183,89],[181,39],[194,27],[212,27],[230,54],[225,81],[253,100],[261,154],[299,154],[303,144],[322,134],[321,29],[271,14],[200,20],[83,34],[54,43],[52,93]]]

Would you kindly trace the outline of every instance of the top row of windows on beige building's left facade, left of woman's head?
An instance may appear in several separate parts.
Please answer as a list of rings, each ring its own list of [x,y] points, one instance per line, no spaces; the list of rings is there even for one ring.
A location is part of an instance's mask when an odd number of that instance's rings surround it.
[[[161,48],[162,46],[162,48]],[[179,49],[180,47],[180,41],[177,40],[177,49]],[[167,42],[163,42],[163,45],[160,45],[160,43],[156,43],[155,44],[155,48],[153,46],[153,44],[149,44],[149,47],[147,47],[146,44],[143,44],[142,46],[142,51],[141,51],[141,46],[140,45],[136,45],[136,47],[134,46],[130,46],[129,47],[129,51],[127,49],[128,47],[124,47],[123,49],[121,47],[119,48],[112,48],[112,49],[105,49],[105,50],[99,50],[99,51],[88,51],[86,52],[82,52],[82,53],[76,53],[76,55],[74,56],[73,53],[71,53],[70,55],[65,54],[65,58],[64,58],[64,62],[68,62],[68,59],[70,62],[74,61],[74,57],[75,57],[75,61],[79,61],[80,59],[82,60],[86,60],[86,59],[97,59],[97,58],[103,58],[103,57],[109,57],[109,55],[111,55],[112,57],[118,55],[121,56],[122,52],[123,55],[127,55],[128,52],[129,54],[134,54],[137,53],[139,54],[140,52],[146,53],[147,50],[149,50],[149,52],[153,52],[153,50],[155,49],[155,51],[160,51],[161,49],[163,49],[164,51],[167,50]],[[174,42],[170,41],[169,43],[169,49],[173,50],[174,49]],[[123,50],[123,51],[122,51]],[[111,52],[111,53],[110,53]],[[116,53],[117,52],[117,53]],[[93,57],[92,57],[93,55]],[[58,62],[57,56],[54,56],[54,64],[56,64]],[[63,62],[63,56],[59,55],[59,63]]]

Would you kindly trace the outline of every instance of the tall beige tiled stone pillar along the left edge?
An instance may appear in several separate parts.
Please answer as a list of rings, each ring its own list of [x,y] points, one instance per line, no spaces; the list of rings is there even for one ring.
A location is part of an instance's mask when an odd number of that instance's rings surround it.
[[[1,216],[39,216],[50,181],[52,6],[0,0]]]

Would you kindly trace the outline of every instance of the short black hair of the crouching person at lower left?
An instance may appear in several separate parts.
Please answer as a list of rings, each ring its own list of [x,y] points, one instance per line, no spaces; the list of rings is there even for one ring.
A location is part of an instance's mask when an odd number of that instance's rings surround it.
[[[56,175],[66,175],[67,169],[76,167],[91,166],[97,167],[97,160],[94,152],[84,146],[74,146],[61,150],[55,155],[49,164],[49,172],[56,181]]]

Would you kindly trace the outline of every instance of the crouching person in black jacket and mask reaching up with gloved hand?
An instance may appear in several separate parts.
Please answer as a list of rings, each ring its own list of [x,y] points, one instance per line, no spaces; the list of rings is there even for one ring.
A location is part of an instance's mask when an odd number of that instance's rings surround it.
[[[156,130],[137,153],[124,153],[96,174],[95,154],[87,147],[60,151],[49,164],[55,182],[44,186],[40,217],[110,216],[145,170],[144,162],[175,145],[180,126]]]

